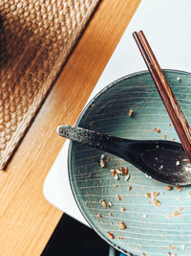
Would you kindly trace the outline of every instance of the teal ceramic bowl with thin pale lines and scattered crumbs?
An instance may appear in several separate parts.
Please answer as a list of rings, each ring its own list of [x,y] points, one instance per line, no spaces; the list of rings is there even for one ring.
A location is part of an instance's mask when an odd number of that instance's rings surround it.
[[[190,123],[191,74],[164,74]],[[179,141],[146,71],[108,85],[86,106],[76,126],[129,139]],[[109,244],[127,255],[191,255],[190,187],[166,187],[117,156],[74,142],[68,164],[80,211]],[[125,168],[128,175],[115,175]]]

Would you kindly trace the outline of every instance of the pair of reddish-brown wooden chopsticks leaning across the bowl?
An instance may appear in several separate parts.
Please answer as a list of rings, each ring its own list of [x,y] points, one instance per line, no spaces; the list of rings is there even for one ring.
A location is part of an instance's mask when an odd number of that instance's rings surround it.
[[[144,58],[153,81],[156,84],[163,105],[165,105],[174,128],[180,137],[182,148],[191,162],[191,130],[180,109],[180,105],[178,104],[177,99],[166,81],[164,74],[159,67],[159,62],[143,32],[135,32],[133,33],[133,36],[138,44],[138,49]]]

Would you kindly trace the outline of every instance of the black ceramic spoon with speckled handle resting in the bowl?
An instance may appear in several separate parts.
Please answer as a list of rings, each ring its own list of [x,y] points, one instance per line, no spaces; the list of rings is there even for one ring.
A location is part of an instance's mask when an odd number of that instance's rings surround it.
[[[180,143],[129,140],[68,125],[60,125],[57,133],[78,143],[115,154],[145,175],[161,182],[180,186],[191,184],[191,165]]]

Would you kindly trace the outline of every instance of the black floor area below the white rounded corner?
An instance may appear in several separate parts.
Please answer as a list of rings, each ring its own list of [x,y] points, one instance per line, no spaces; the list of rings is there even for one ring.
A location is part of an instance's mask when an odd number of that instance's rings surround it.
[[[109,256],[106,244],[91,228],[63,214],[42,256]],[[115,253],[115,256],[119,253]]]

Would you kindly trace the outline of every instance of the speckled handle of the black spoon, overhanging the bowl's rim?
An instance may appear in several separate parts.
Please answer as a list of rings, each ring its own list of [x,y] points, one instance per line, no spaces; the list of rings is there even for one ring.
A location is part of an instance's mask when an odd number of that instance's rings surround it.
[[[131,141],[108,134],[99,133],[93,130],[72,127],[68,125],[60,125],[57,128],[57,133],[67,139],[90,146],[92,148],[96,148],[101,151],[113,153],[119,157],[123,157],[123,153],[121,151],[123,144],[127,145],[128,142]]]

